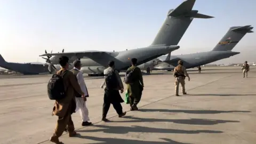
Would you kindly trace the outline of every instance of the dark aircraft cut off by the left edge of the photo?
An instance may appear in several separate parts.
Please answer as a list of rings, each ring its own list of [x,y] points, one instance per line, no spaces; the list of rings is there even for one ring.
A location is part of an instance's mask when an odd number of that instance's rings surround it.
[[[16,71],[24,75],[37,75],[40,73],[49,73],[47,70],[48,66],[38,65],[33,63],[15,63],[7,62],[0,54],[0,67]]]

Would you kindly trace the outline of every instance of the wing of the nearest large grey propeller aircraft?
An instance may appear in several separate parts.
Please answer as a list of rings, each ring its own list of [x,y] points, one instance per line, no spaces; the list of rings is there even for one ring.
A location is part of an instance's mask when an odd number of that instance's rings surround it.
[[[51,56],[51,55],[60,55],[60,56],[66,56],[66,57],[77,57],[77,59],[81,59],[83,57],[90,58],[94,60],[95,62],[99,63],[102,66],[107,66],[108,60],[113,60],[115,61],[116,65],[122,66],[123,62],[119,61],[115,57],[111,55],[111,53],[104,52],[104,51],[82,51],[82,52],[63,52],[63,53],[46,53],[43,55],[39,55],[40,57],[42,56]]]

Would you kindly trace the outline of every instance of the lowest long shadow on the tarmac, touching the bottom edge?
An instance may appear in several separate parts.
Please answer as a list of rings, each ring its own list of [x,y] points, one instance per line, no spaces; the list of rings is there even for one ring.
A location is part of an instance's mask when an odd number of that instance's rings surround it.
[[[129,140],[129,139],[117,139],[117,138],[97,138],[97,137],[91,137],[91,136],[82,136],[82,135],[77,135],[78,138],[82,139],[90,139],[90,140],[95,140],[95,141],[101,141],[97,144],[114,144],[114,143],[125,143],[125,144],[165,144],[165,143],[172,143],[172,144],[192,144],[192,143],[183,143],[183,142],[178,142],[174,141],[171,139],[167,138],[160,138],[162,140],[165,140],[166,142],[158,142],[158,141],[142,141],[142,140]],[[92,143],[90,143],[92,144]]]

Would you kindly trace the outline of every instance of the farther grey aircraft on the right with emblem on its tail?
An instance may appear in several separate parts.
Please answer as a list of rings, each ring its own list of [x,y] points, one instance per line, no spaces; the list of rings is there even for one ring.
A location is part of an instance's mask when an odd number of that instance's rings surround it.
[[[253,33],[251,30],[253,27],[249,26],[236,26],[231,27],[220,40],[220,42],[213,48],[212,51],[209,52],[199,52],[199,53],[191,53],[191,54],[182,54],[182,55],[171,55],[170,59],[167,60],[162,56],[159,58],[164,63],[167,63],[172,66],[177,66],[178,61],[183,61],[183,66],[186,68],[194,68],[202,65],[206,65],[207,63],[211,63],[214,61],[218,61],[221,59],[226,59],[240,52],[233,52],[231,51],[237,43],[245,36],[247,33]],[[163,65],[163,63],[159,63],[159,65]],[[161,67],[156,65],[157,68],[162,69],[174,69],[174,67]]]

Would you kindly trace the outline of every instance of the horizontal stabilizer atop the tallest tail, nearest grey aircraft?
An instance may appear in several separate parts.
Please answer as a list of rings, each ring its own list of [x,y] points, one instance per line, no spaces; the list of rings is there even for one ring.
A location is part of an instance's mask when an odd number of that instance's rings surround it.
[[[209,19],[214,18],[209,15],[198,13],[197,10],[192,10],[196,0],[187,0],[181,3],[176,9],[172,9],[168,12],[168,16],[171,17],[194,17],[194,18],[201,18],[201,19]]]

